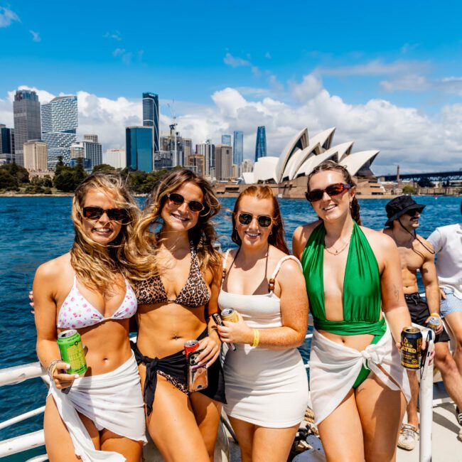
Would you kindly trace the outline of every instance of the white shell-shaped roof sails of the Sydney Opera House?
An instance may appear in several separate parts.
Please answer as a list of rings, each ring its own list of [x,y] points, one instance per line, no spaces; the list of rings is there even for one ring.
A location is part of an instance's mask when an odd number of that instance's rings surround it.
[[[283,149],[281,156],[267,156],[258,159],[254,171],[243,173],[246,184],[294,181],[306,177],[323,161],[333,159],[348,168],[352,176],[364,178],[372,176],[370,164],[379,151],[352,153],[353,141],[332,146],[335,127],[308,137],[308,129],[303,129],[292,138]],[[306,181],[306,178],[304,179]]]

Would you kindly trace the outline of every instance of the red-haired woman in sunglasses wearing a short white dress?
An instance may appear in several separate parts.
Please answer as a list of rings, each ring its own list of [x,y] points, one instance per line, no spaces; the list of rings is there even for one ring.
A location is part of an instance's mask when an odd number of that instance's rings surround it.
[[[267,186],[237,198],[232,240],[239,248],[223,262],[220,309],[239,321],[218,327],[225,343],[225,411],[242,461],[286,461],[308,402],[308,382],[297,346],[308,324],[308,299],[299,261],[284,242],[279,205]],[[277,444],[274,444],[277,441]]]

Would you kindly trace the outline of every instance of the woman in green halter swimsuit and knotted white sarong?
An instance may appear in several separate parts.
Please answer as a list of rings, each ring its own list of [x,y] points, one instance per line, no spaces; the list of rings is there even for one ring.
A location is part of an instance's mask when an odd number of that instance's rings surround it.
[[[315,326],[310,391],[321,441],[328,461],[393,461],[409,397],[399,339],[411,325],[397,247],[360,226],[355,183],[338,163],[313,170],[306,198],[320,220],[297,228],[293,247]]]

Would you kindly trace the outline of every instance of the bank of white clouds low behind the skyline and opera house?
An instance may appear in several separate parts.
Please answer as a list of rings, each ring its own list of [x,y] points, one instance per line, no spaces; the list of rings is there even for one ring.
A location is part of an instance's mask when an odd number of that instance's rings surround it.
[[[178,129],[197,144],[212,139],[219,143],[221,134],[242,130],[245,157],[252,159],[257,126],[267,127],[268,154],[278,156],[296,131],[308,127],[313,136],[328,127],[336,127],[335,144],[355,141],[353,151],[380,149],[372,171],[393,173],[397,163],[403,172],[444,170],[461,166],[462,104],[448,104],[437,114],[425,114],[413,107],[400,107],[387,100],[369,100],[348,104],[331,95],[316,76],[303,76],[301,83],[289,82],[294,100],[281,101],[271,89],[225,88],[212,95],[212,104],[175,102]],[[53,95],[36,90],[42,102]],[[245,94],[252,93],[256,101]],[[0,100],[0,122],[11,126],[12,98]],[[77,92],[78,134],[100,136],[103,149],[123,147],[125,127],[141,124],[141,100],[125,97],[110,99]],[[161,107],[162,109],[162,107]],[[161,130],[168,129],[169,114],[161,114]]]

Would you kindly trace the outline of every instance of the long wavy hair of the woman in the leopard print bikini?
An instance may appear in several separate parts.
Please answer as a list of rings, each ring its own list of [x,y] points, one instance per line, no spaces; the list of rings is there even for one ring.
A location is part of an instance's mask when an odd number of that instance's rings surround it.
[[[188,231],[189,240],[193,242],[198,254],[200,269],[204,272],[206,268],[220,264],[220,254],[214,247],[217,235],[211,222],[220,211],[220,202],[208,181],[187,168],[178,168],[154,184],[136,225],[134,237],[128,243],[127,257],[130,279],[133,281],[142,281],[163,271],[164,262],[157,255],[163,226],[161,213],[168,193],[173,193],[184,183],[195,184],[203,193],[204,210],[200,212],[197,224]]]

